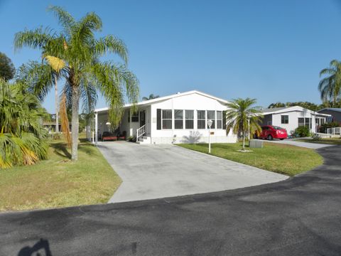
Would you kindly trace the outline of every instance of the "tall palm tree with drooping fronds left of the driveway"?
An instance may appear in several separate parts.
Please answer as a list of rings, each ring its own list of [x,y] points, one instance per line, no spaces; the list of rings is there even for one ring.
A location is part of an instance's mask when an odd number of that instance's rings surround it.
[[[100,31],[102,21],[97,14],[88,13],[76,21],[67,11],[52,6],[63,31],[59,34],[48,29],[16,33],[15,47],[28,46],[43,50],[51,58],[51,63],[60,65],[60,76],[65,78],[63,93],[72,110],[72,160],[77,160],[79,103],[82,99],[84,112],[94,110],[97,92],[100,92],[109,105],[109,122],[117,127],[124,106],[124,95],[129,102],[139,99],[139,83],[136,76],[126,68],[128,53],[123,41],[114,36],[95,38],[94,32]],[[107,54],[117,54],[124,64],[102,61]],[[42,73],[43,71],[40,71]],[[40,78],[44,78],[40,75]],[[47,91],[50,80],[41,80],[38,90]]]

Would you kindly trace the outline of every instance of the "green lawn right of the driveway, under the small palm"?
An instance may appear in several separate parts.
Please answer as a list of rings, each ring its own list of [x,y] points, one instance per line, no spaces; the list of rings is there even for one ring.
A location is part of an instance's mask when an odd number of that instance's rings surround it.
[[[208,152],[208,144],[178,144],[178,146],[203,153]],[[242,149],[241,143],[211,144],[212,155],[289,176],[323,164],[322,156],[313,149],[298,146],[264,142],[264,148],[250,149],[252,152],[243,153],[237,151],[238,149]]]

